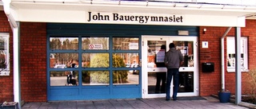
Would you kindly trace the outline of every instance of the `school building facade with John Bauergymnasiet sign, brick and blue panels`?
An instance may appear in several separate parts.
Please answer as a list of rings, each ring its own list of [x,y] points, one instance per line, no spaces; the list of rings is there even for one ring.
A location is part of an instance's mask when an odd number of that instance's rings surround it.
[[[254,7],[88,2],[7,2],[11,14],[0,11],[0,102],[165,97],[158,88],[164,82],[157,83],[166,68],[155,64],[164,56],[160,46],[168,50],[171,42],[185,61],[178,96],[218,94],[223,87],[234,95],[239,85],[241,94],[250,91],[248,72],[256,67]],[[239,69],[235,59],[241,60]],[[73,68],[67,66],[70,60]]]

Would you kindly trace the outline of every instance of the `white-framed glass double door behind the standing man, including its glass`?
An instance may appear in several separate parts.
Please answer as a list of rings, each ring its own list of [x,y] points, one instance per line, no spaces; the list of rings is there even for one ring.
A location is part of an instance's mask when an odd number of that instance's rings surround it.
[[[142,97],[166,96],[167,69],[163,59],[170,43],[174,43],[176,49],[181,50],[184,56],[184,64],[179,69],[178,96],[198,95],[197,37],[144,36],[142,38]],[[172,93],[172,89],[170,91]]]

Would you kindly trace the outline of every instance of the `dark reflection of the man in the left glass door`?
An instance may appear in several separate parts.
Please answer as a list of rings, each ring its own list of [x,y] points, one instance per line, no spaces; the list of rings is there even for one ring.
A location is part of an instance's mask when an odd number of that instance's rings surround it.
[[[164,50],[164,54],[166,53],[166,45],[161,45],[161,49],[160,50]],[[162,68],[162,67],[166,67],[166,64],[164,63],[164,61],[160,61],[158,62],[158,55],[164,55],[164,54],[160,54],[159,52],[155,55],[154,58],[154,63],[156,64],[157,68]],[[164,56],[163,56],[164,57]],[[158,60],[157,60],[158,59]],[[166,92],[166,72],[156,72],[157,74],[157,82],[156,82],[156,87],[155,87],[155,93],[165,93]],[[160,88],[160,84],[161,88]]]

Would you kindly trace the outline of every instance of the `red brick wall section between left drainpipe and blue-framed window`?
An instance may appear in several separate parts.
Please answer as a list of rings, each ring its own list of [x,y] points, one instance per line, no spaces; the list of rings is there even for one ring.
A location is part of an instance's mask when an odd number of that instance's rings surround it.
[[[20,23],[22,100],[46,101],[46,23]]]

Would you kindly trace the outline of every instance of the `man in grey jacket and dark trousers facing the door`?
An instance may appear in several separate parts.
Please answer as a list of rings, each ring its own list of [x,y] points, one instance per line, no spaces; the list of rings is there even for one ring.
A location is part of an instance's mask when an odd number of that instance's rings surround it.
[[[170,100],[170,82],[174,76],[173,100],[177,100],[178,92],[178,68],[182,64],[183,56],[181,51],[175,49],[174,43],[170,43],[170,50],[166,53],[165,64],[167,68],[166,101]]]

